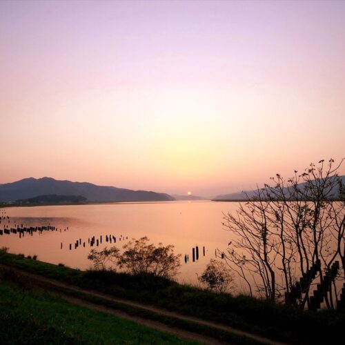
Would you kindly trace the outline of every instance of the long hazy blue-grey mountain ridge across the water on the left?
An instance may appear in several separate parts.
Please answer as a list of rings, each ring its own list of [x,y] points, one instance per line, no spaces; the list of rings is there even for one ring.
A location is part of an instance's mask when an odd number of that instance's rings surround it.
[[[21,179],[0,185],[0,201],[29,199],[38,195],[80,195],[88,201],[171,201],[168,194],[97,186],[88,182],[59,181],[50,177]]]

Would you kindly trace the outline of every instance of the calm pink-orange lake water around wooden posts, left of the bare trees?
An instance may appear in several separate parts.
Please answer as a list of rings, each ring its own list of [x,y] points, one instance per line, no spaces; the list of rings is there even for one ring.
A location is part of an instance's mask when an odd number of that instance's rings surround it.
[[[10,224],[3,220],[1,229],[3,224],[14,227],[15,222],[16,227],[17,224],[50,224],[59,230],[45,231],[41,235],[33,233],[33,236],[26,234],[23,238],[19,238],[18,234],[3,235],[0,236],[0,247],[9,247],[10,253],[37,255],[43,262],[87,269],[92,266],[87,259],[90,251],[89,237],[99,238],[103,235],[103,243],[98,247],[100,249],[114,245],[106,243],[106,235],[117,237],[115,246],[119,248],[132,238],[147,236],[154,244],[173,244],[175,253],[182,255],[177,279],[179,282],[196,283],[197,275],[215,257],[216,248],[226,249],[230,233],[221,225],[223,213],[234,211],[238,206],[237,203],[228,202],[170,201],[6,208]],[[74,244],[79,239],[81,244],[86,242],[86,248],[81,245],[75,249]],[[72,250],[69,249],[69,244],[72,244]],[[199,246],[199,260],[192,262],[192,248],[195,246]],[[205,256],[203,246],[206,248]],[[185,254],[189,255],[187,264],[184,262]]]

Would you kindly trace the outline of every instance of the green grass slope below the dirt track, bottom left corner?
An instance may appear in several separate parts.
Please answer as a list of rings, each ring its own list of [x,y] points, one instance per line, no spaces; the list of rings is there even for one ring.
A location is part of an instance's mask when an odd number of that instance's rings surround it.
[[[197,344],[0,281],[1,344]]]

